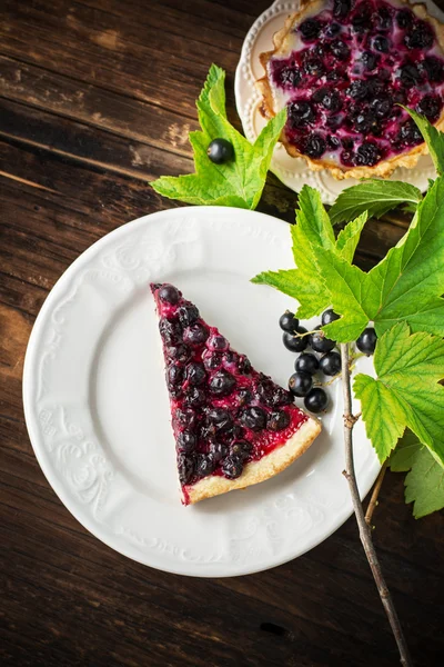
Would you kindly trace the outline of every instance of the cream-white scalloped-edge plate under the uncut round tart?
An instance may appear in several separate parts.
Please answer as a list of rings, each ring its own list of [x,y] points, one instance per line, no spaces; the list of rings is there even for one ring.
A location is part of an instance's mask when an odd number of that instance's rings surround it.
[[[431,16],[444,21],[444,12],[432,0],[424,0],[424,2]],[[235,99],[243,131],[249,141],[254,141],[265,125],[259,111],[261,96],[254,86],[254,81],[264,73],[259,56],[263,51],[273,49],[273,34],[282,28],[285,18],[299,7],[299,0],[293,2],[278,0],[253,23],[243,43],[235,74]],[[304,183],[317,188],[324,203],[333,203],[342,190],[359,182],[353,178],[336,180],[326,169],[312,171],[303,158],[291,158],[281,143],[274,149],[271,171],[295,192],[299,192]],[[406,181],[425,191],[430,178],[436,178],[435,168],[430,156],[422,156],[414,169],[398,168],[391,180]]]

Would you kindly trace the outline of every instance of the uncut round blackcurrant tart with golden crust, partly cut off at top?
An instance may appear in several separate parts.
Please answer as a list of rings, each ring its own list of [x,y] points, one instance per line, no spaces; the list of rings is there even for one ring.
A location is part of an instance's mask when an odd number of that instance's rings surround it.
[[[301,0],[261,53],[262,113],[281,141],[339,179],[390,176],[427,151],[402,106],[444,126],[444,26],[404,0]]]

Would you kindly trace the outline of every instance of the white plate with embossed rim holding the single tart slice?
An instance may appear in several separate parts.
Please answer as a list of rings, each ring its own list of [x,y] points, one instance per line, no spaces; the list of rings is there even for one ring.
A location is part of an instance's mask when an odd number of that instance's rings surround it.
[[[282,346],[278,319],[292,300],[249,279],[290,266],[285,222],[240,209],[175,208],[105,236],[52,289],[26,357],[27,425],[62,502],[113,549],[182,575],[244,575],[303,554],[351,515],[340,382],[330,388],[322,436],[284,472],[193,507],[180,501],[148,283],[178,285],[233,347],[285,386],[294,355]],[[355,442],[365,494],[379,464],[362,424]]]

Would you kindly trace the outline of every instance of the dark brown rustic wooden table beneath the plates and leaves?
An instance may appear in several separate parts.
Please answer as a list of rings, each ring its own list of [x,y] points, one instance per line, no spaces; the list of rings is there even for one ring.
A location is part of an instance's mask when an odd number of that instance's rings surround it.
[[[186,7],[186,9],[184,9]],[[21,401],[34,318],[67,267],[123,222],[178,206],[148,181],[192,170],[188,132],[211,62],[233,77],[268,0],[2,0],[0,540],[2,665],[334,667],[397,664],[351,518],[274,570],[196,580],[112,551],[57,498]],[[238,121],[239,122],[239,121]],[[260,210],[293,219],[270,177]],[[370,222],[369,268],[408,220]],[[415,521],[387,474],[375,542],[416,665],[443,663],[443,516]]]

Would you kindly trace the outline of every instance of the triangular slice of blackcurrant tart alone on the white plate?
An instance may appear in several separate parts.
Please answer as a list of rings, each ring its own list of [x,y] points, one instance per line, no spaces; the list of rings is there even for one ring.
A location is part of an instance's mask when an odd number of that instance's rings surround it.
[[[191,301],[151,285],[167,366],[184,505],[273,477],[321,431],[290,391],[258,372]]]

